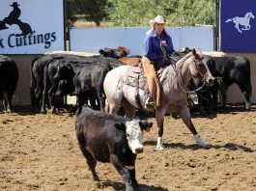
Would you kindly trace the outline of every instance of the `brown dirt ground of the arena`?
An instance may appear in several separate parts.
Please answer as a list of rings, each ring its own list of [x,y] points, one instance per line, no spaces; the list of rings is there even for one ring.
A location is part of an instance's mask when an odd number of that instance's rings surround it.
[[[256,190],[256,105],[249,112],[229,105],[216,116],[192,115],[210,149],[199,148],[182,120],[165,117],[164,150],[156,150],[156,121],[137,156],[141,190]],[[68,109],[31,114],[29,108],[0,112],[0,190],[124,190],[110,164],[98,163],[95,182],[78,149]]]

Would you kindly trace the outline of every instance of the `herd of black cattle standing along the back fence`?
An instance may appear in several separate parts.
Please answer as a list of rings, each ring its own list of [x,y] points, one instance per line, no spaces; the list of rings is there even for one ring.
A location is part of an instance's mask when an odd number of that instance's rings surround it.
[[[180,55],[187,51],[189,49],[175,52],[171,57],[178,55],[181,58]],[[105,48],[99,52],[100,56],[90,57],[56,53],[34,58],[31,62],[30,83],[33,111],[46,113],[47,107],[56,112],[56,95],[76,95],[76,114],[88,102],[93,109],[102,111],[105,102],[102,87],[104,76],[110,69],[125,65],[120,58],[127,57],[128,50]],[[217,112],[220,101],[225,106],[226,91],[234,83],[244,95],[244,108],[248,110],[252,92],[250,61],[242,56],[205,56],[205,62],[216,80],[213,86],[197,92],[200,111]],[[0,56],[0,109],[12,110],[17,80],[18,70],[14,60]],[[188,88],[196,90],[201,86],[200,83],[193,79]]]

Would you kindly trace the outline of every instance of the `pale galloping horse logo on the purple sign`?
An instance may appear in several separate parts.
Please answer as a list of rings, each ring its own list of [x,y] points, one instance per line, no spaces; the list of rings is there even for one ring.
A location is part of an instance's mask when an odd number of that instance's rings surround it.
[[[234,18],[227,19],[225,22],[233,21],[235,23],[235,28],[238,29],[239,33],[242,33],[242,31],[250,30],[250,18],[254,17],[255,16],[251,12],[249,12],[243,17],[236,16]],[[240,28],[240,25],[242,25],[244,28]]]

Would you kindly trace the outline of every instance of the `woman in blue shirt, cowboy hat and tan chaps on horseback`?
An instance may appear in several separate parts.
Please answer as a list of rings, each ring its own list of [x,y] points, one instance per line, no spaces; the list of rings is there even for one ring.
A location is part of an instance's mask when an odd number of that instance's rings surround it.
[[[146,33],[144,56],[142,65],[149,85],[149,91],[153,101],[147,99],[148,106],[160,107],[160,83],[156,70],[166,65],[167,58],[162,52],[162,48],[170,54],[174,51],[171,37],[164,28],[164,19],[162,15],[157,15],[155,19],[150,20],[151,30]]]

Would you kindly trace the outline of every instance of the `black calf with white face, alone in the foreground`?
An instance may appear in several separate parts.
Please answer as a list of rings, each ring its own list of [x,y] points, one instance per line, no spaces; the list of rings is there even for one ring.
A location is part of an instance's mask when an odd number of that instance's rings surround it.
[[[84,108],[75,120],[75,132],[94,180],[99,180],[97,161],[110,162],[123,177],[126,190],[138,190],[136,154],[143,151],[143,130],[148,132],[152,124]]]

